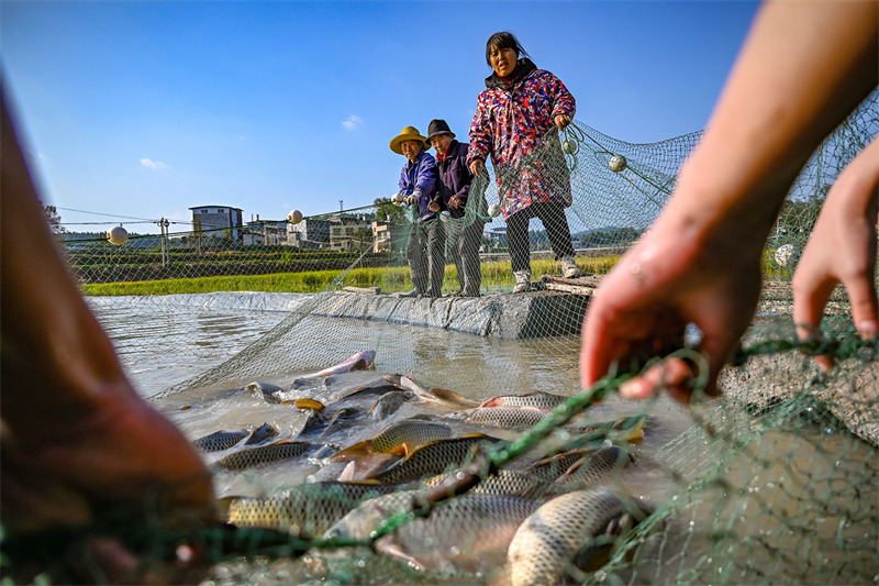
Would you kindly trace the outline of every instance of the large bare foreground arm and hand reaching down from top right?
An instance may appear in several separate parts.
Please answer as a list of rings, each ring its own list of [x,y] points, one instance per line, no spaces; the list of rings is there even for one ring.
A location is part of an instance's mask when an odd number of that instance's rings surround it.
[[[693,322],[703,332],[706,391],[716,394],[717,374],[754,316],[761,251],[791,183],[876,87],[877,20],[875,1],[761,8],[674,197],[587,312],[582,385],[614,361],[680,347]],[[661,383],[688,400],[687,372],[667,362],[620,390],[646,397]]]

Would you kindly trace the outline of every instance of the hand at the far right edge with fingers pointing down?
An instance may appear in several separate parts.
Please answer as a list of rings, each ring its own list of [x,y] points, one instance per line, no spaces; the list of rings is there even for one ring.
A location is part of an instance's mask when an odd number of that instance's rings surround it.
[[[843,284],[852,320],[865,340],[879,331],[876,292],[876,219],[879,204],[879,140],[843,170],[827,192],[809,243],[793,275],[793,322],[801,340],[817,332],[827,299]],[[819,366],[834,366],[815,356]]]

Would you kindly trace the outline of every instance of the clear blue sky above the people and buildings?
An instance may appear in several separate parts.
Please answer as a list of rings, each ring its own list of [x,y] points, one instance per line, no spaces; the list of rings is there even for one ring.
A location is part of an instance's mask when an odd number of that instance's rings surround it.
[[[0,59],[44,199],[97,222],[69,230],[176,232],[194,206],[279,220],[389,197],[404,126],[466,141],[502,30],[578,121],[631,143],[700,130],[758,5],[2,0]]]

